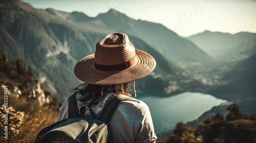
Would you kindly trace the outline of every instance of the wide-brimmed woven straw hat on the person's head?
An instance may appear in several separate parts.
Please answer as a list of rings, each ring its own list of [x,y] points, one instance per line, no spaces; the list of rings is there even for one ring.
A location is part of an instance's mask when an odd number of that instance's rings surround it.
[[[79,80],[89,84],[114,85],[141,79],[155,67],[155,59],[135,50],[126,34],[113,33],[96,44],[95,54],[77,62],[74,73]]]

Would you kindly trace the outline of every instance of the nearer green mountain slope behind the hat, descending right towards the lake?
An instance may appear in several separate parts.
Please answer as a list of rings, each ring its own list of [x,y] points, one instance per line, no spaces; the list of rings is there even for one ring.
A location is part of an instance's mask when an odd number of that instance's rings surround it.
[[[6,51],[10,59],[19,58],[31,65],[39,82],[61,99],[67,97],[68,89],[81,83],[73,73],[76,62],[94,53],[95,44],[113,32],[100,27],[97,20],[74,20],[83,14],[35,9],[20,1],[1,1],[0,8],[1,51]],[[97,22],[99,25],[95,25]],[[136,49],[152,54],[157,61],[154,73],[136,84],[139,92],[181,92],[194,89],[190,83],[200,84],[144,40],[129,37]],[[170,90],[170,86],[181,88]]]

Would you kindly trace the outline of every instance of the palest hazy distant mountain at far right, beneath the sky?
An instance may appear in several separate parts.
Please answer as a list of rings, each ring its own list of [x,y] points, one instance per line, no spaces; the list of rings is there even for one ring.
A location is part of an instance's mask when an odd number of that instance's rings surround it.
[[[204,31],[186,37],[204,50],[208,55],[221,63],[231,58],[248,58],[256,52],[256,33],[240,32],[237,34]]]

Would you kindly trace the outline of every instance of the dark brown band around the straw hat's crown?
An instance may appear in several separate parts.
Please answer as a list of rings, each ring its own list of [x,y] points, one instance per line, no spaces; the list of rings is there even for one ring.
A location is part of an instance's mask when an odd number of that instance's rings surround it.
[[[94,62],[94,67],[102,71],[116,71],[116,70],[123,70],[123,69],[129,68],[133,66],[136,62],[137,62],[137,58],[135,57],[130,61],[120,63],[120,64],[115,64],[115,65],[102,65]]]

